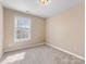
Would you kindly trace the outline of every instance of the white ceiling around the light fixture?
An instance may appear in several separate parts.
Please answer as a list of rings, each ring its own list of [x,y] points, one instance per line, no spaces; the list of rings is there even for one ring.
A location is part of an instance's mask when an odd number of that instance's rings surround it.
[[[2,4],[5,8],[14,9],[27,14],[34,14],[40,17],[50,17],[84,0],[50,0],[48,5],[41,5],[38,1],[39,0],[3,0]]]

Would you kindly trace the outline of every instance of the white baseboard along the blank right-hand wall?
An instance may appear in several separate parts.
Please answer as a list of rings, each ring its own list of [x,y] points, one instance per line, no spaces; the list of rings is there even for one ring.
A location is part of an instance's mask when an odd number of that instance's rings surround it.
[[[79,55],[77,55],[77,54],[75,54],[75,53],[72,53],[72,52],[66,51],[66,50],[61,49],[61,48],[58,48],[58,47],[56,47],[56,46],[53,46],[53,44],[51,44],[51,43],[46,43],[46,44],[47,44],[47,46],[50,46],[50,47],[52,47],[52,48],[56,48],[56,49],[58,49],[58,50],[60,50],[60,51],[62,51],[62,52],[65,52],[65,53],[67,53],[67,54],[71,54],[71,55],[73,55],[73,56],[75,56],[75,57],[77,57],[77,59],[81,59],[81,60],[84,60],[84,61],[85,61],[85,57],[79,56]]]

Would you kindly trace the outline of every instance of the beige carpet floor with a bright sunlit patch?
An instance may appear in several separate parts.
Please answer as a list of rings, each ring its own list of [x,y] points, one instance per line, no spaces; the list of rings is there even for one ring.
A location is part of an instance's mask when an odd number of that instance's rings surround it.
[[[48,46],[4,53],[0,64],[85,64],[72,55]]]

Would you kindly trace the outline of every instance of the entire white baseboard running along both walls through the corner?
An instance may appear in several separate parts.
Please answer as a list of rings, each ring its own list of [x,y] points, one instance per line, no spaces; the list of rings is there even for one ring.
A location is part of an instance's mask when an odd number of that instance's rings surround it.
[[[19,46],[19,47],[15,47],[15,48],[7,48],[7,49],[4,49],[4,52],[9,52],[9,51],[14,51],[14,50],[20,50],[20,49],[26,49],[26,48],[32,48],[32,47],[36,47],[36,46],[42,46],[42,44],[47,44],[47,46],[50,46],[50,47],[52,47],[52,48],[56,48],[56,49],[58,49],[58,50],[60,50],[60,51],[62,51],[62,52],[65,52],[65,53],[67,53],[67,54],[71,54],[71,55],[73,55],[73,56],[75,56],[75,57],[78,57],[78,59],[81,59],[81,60],[84,60],[85,61],[85,59],[83,57],[83,56],[79,56],[79,55],[77,55],[77,54],[75,54],[75,53],[72,53],[72,52],[70,52],[70,51],[66,51],[66,50],[64,50],[64,49],[61,49],[61,48],[58,48],[58,47],[56,47],[56,46],[53,46],[53,44],[51,44],[51,43],[45,43],[45,42],[42,42],[42,43],[34,43],[34,44],[26,44],[26,46]]]

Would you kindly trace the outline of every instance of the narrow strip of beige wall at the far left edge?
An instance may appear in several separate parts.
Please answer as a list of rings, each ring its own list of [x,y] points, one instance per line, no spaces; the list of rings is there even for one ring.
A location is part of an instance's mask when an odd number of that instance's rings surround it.
[[[3,9],[0,3],[0,57],[3,53]]]

